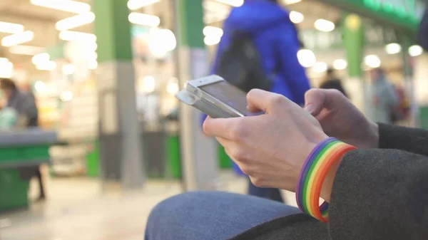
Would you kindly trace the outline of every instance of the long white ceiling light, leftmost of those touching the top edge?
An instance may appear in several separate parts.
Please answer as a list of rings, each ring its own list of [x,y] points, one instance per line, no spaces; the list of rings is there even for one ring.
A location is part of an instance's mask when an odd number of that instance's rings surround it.
[[[31,4],[36,6],[43,6],[49,9],[56,9],[60,11],[68,11],[75,14],[83,14],[91,11],[91,5],[81,1],[71,0],[31,0]]]

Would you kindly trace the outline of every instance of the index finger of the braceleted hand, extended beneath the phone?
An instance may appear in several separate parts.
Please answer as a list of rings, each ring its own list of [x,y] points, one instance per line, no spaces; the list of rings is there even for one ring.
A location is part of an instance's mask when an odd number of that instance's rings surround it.
[[[231,139],[230,132],[233,132],[233,127],[237,125],[238,118],[207,118],[203,122],[203,132],[212,137],[223,137]]]

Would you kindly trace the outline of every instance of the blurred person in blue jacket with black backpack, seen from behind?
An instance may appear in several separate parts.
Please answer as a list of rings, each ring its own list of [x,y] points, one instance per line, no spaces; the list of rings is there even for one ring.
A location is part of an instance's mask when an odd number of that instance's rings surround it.
[[[297,60],[300,40],[279,1],[245,0],[230,12],[223,31],[213,73],[242,90],[260,88],[304,104],[310,85]],[[248,184],[250,195],[282,202],[278,189],[255,187],[250,180]]]

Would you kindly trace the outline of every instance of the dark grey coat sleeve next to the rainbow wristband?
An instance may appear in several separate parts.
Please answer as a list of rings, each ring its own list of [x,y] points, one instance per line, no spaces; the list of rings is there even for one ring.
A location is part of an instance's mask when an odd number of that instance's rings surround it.
[[[428,239],[428,157],[402,150],[345,155],[332,188],[329,231],[331,239]]]

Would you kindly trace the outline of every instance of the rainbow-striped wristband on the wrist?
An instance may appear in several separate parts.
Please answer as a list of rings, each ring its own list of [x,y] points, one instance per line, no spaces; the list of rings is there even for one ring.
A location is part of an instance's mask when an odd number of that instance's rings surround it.
[[[322,183],[328,171],[346,152],[355,147],[329,137],[318,143],[305,161],[296,187],[297,206],[302,212],[327,222],[328,203],[319,203]]]

